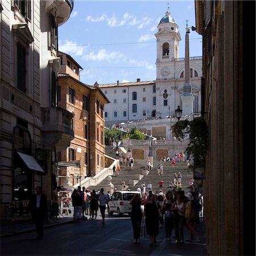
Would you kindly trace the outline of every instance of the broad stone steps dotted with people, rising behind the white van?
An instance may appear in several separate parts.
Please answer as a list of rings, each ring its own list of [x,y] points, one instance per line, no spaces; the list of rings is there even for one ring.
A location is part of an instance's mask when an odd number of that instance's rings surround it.
[[[112,147],[106,146],[105,154],[115,158],[115,151]],[[135,157],[134,157],[135,158]],[[136,191],[136,189],[141,187],[141,184],[144,183],[147,188],[148,181],[152,184],[152,191],[159,191],[159,181],[163,180],[163,192],[166,193],[169,188],[170,181],[174,179],[174,173],[178,174],[181,172],[182,179],[181,185],[185,193],[189,191],[189,181],[193,178],[193,171],[188,168],[186,162],[176,162],[171,164],[171,162],[160,162],[163,165],[163,174],[158,175],[157,166],[159,160],[153,160],[154,167],[151,171],[148,171],[147,168],[147,159],[134,159],[134,167],[131,170],[131,167],[127,165],[126,167],[121,168],[119,174],[116,172],[115,176],[112,175],[112,184],[118,190],[122,188],[122,181],[125,181],[126,185],[129,185],[130,191]],[[106,187],[109,184],[108,179],[104,179],[100,184],[95,186],[90,186],[89,189],[100,189],[101,187]],[[148,191],[148,189],[146,189]]]

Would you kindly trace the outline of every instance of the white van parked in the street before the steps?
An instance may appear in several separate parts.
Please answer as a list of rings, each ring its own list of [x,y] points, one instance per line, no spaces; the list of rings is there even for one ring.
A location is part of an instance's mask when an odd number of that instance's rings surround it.
[[[139,194],[141,197],[141,192],[138,191],[115,191],[108,202],[108,213],[113,215],[117,212],[118,216],[122,216],[123,213],[131,213],[130,200],[133,198],[134,194]],[[141,207],[142,212],[144,206]]]

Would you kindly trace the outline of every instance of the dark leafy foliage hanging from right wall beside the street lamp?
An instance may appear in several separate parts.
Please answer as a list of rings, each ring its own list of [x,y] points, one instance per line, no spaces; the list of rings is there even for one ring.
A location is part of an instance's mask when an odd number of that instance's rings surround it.
[[[195,167],[205,167],[205,156],[208,152],[208,126],[203,117],[187,119],[176,122],[172,126],[175,137],[180,141],[189,137],[185,154],[193,158]]]

